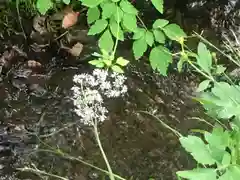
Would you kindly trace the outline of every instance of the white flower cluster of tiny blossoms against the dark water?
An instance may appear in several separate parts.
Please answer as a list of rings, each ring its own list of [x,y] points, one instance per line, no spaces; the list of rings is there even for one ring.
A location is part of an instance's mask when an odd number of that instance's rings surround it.
[[[95,69],[92,74],[75,75],[73,81],[75,112],[86,125],[106,119],[108,110],[104,107],[104,96],[119,97],[127,92],[126,77],[115,72],[109,74],[106,70]]]

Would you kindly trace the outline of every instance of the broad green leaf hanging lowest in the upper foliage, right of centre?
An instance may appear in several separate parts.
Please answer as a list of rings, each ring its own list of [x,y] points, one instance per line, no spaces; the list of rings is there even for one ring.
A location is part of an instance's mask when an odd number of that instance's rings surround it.
[[[169,63],[172,62],[172,56],[169,50],[163,46],[153,48],[149,56],[150,64],[154,70],[159,71],[162,75],[167,75]]]

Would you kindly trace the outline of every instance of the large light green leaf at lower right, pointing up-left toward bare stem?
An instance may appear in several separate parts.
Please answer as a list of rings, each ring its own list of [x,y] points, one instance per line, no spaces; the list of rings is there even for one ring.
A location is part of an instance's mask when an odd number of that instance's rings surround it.
[[[215,163],[207,145],[204,144],[201,138],[188,135],[187,137],[180,137],[179,140],[185,150],[191,153],[198,163],[204,165],[213,165]]]

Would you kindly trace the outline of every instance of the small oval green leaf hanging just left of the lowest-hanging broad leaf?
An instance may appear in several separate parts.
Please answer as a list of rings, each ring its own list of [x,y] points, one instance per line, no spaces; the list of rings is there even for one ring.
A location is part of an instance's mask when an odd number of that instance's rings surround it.
[[[145,38],[142,37],[133,42],[133,54],[135,59],[139,59],[147,50],[147,43]]]

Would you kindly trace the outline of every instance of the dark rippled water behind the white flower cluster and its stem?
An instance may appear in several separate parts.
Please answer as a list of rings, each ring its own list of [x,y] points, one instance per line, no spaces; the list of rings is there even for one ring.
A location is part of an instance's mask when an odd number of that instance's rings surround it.
[[[219,2],[203,4],[205,11],[200,5],[193,7],[193,3],[183,5],[172,1],[167,4],[167,9],[172,8],[170,18],[188,32],[206,30],[204,35],[219,44],[217,27],[212,26],[207,16],[209,9],[214,9],[214,5],[218,7]],[[106,169],[91,129],[77,123],[79,118],[74,112],[70,90],[75,74],[92,71],[86,60],[89,52],[95,50],[96,42],[84,42],[83,54],[73,58],[59,48],[58,41],[41,46],[39,42],[25,41],[22,37],[21,34],[16,35],[16,39],[5,36],[0,43],[3,67],[0,179],[56,179],[16,170],[25,166],[71,180],[108,179],[104,173],[59,154],[65,152]],[[81,40],[86,39],[81,37]],[[189,47],[194,49],[196,44],[197,41],[190,41]],[[176,171],[192,168],[194,161],[180,147],[175,134],[155,117],[183,135],[191,129],[207,128],[193,119],[207,118],[201,106],[191,99],[199,78],[191,72],[179,74],[174,68],[168,77],[163,77],[152,72],[147,57],[134,62],[131,52],[124,46],[120,46],[118,53],[132,62],[126,71],[128,94],[107,102],[109,117],[99,127],[110,165],[115,174],[125,179],[174,180]],[[28,60],[36,60],[41,66],[29,67]]]

